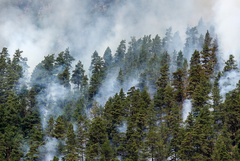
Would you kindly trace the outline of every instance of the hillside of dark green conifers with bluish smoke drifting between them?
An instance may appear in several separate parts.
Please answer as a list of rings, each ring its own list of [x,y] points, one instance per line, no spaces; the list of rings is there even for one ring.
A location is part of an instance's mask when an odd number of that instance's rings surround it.
[[[49,53],[31,73],[0,52],[0,160],[240,160],[240,82],[202,20],[92,53]],[[103,55],[103,56],[100,56]],[[238,80],[237,80],[238,81]]]

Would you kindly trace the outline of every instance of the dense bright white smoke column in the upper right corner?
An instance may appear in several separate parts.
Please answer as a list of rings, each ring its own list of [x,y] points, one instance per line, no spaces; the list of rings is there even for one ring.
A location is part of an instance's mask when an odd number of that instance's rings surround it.
[[[219,46],[224,53],[223,58],[227,60],[229,54],[233,54],[239,60],[240,1],[218,0],[213,7],[213,11],[216,33],[219,37]]]

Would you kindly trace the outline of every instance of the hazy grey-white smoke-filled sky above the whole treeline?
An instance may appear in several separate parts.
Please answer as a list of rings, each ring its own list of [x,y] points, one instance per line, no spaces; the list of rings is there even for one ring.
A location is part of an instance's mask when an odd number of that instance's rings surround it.
[[[184,41],[187,26],[200,18],[215,25],[226,55],[239,51],[237,0],[1,0],[0,14],[1,47],[10,55],[23,50],[30,71],[44,56],[67,47],[88,69],[94,50],[103,55],[109,46],[114,54],[121,40],[163,37],[170,26]]]

